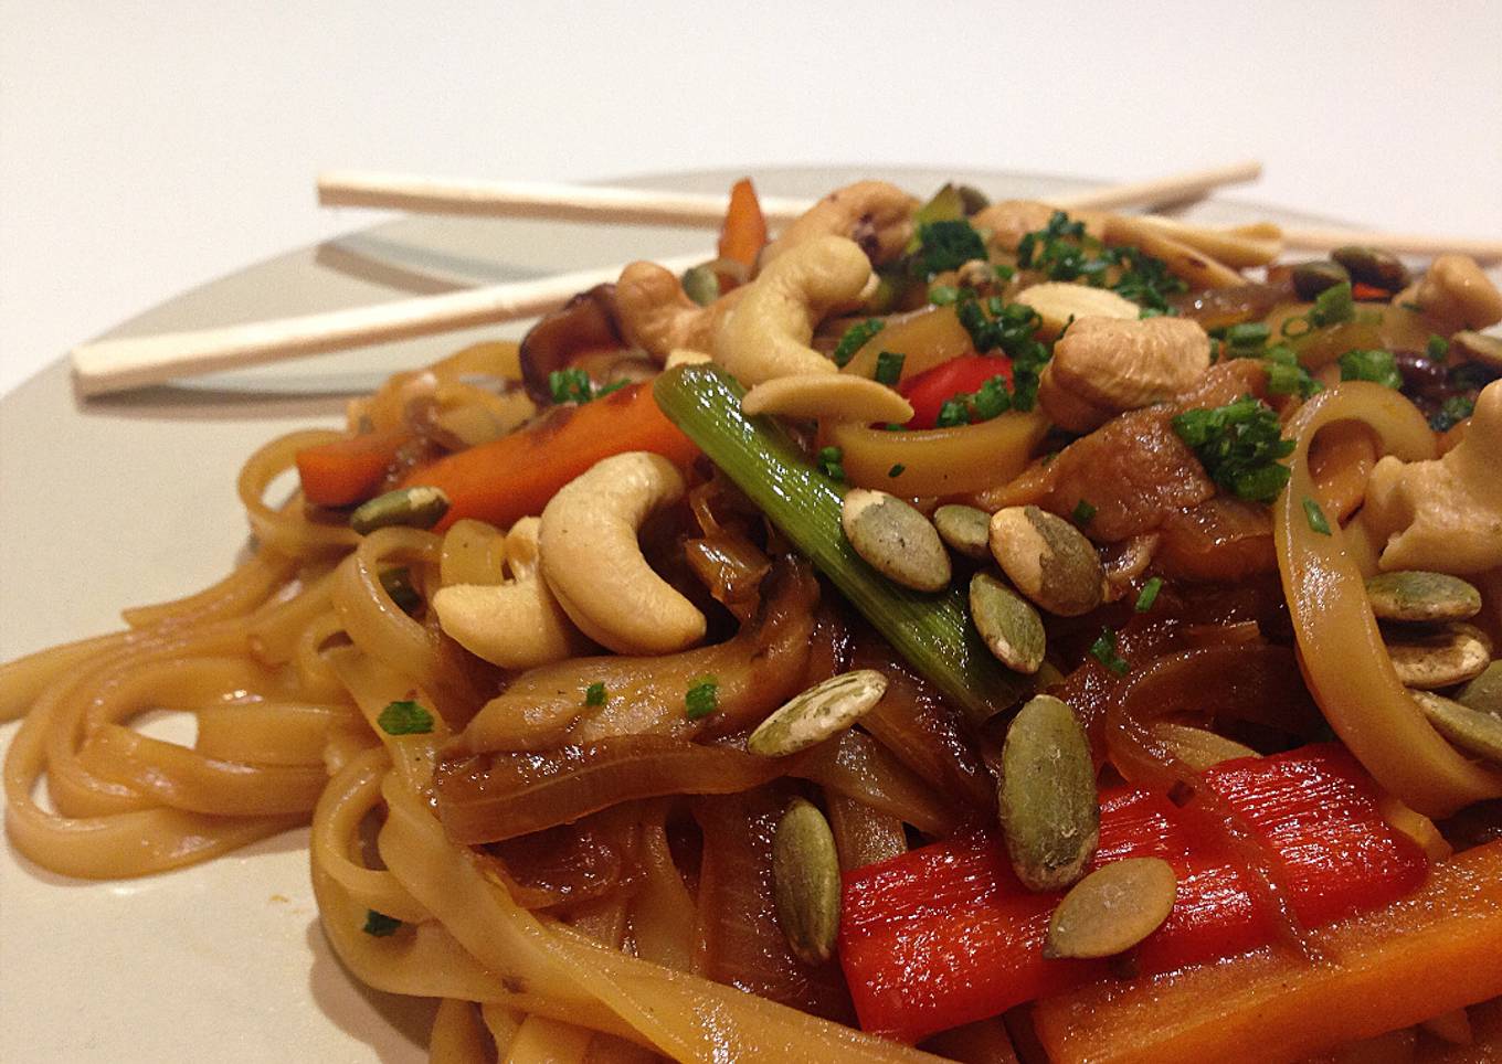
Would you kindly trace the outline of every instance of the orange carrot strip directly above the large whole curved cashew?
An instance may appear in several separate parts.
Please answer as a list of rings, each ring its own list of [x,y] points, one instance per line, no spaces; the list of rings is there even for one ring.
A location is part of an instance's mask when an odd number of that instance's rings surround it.
[[[532,428],[440,458],[403,486],[433,485],[449,497],[442,531],[460,518],[500,528],[542,513],[559,488],[602,458],[650,450],[674,462],[698,449],[658,410],[650,384],[632,384],[580,407],[559,407]]]

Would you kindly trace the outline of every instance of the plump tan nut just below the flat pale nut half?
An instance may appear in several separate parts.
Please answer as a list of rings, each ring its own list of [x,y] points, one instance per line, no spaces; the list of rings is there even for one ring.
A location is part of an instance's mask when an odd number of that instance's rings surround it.
[[[1048,416],[1072,432],[1089,432],[1111,414],[1172,399],[1211,365],[1211,341],[1188,318],[1080,318],[1054,345],[1038,396]],[[1060,402],[1062,396],[1078,401]],[[1105,417],[1080,413],[1099,408]]]

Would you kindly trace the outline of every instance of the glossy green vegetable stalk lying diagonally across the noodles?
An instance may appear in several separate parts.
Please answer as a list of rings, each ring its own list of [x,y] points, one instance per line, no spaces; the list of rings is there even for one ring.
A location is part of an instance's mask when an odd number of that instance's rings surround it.
[[[841,486],[819,473],[769,417],[740,413],[743,390],[713,365],[659,375],[662,413],[734,480],[861,614],[945,698],[984,722],[1030,693],[970,624],[963,588],[925,594],[898,587],[861,560],[840,527]]]

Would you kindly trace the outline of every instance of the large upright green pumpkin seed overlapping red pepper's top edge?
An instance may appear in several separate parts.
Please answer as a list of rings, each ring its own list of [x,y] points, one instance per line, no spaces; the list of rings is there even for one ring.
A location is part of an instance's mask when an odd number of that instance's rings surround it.
[[[1090,744],[1074,710],[1032,698],[1002,744],[1000,821],[1012,870],[1029,890],[1080,878],[1101,836]]]

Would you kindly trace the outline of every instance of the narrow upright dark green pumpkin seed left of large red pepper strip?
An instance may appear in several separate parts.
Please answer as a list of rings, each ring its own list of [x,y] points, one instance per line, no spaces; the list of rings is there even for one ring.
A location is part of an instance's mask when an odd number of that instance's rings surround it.
[[[829,821],[793,798],[772,836],[772,900],[777,923],[799,960],[822,965],[840,930],[840,857]]]

